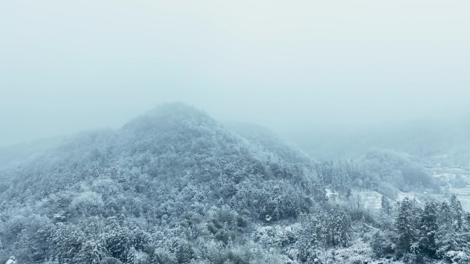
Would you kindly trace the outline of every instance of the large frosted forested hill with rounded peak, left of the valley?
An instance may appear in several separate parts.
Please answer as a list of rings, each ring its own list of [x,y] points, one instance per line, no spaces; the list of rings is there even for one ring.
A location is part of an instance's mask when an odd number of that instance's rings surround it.
[[[243,239],[251,221],[308,211],[320,186],[313,173],[256,149],[184,104],[79,134],[0,172],[0,261],[185,263],[202,253],[174,247],[194,248],[196,238],[226,244]],[[162,239],[166,232],[176,240]]]

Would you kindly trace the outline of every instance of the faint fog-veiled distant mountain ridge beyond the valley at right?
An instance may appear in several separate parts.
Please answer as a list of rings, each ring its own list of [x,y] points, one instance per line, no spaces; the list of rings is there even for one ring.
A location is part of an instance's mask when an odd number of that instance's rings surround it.
[[[455,114],[359,128],[306,128],[289,138],[317,159],[360,158],[368,149],[384,148],[416,158],[447,156],[454,165],[469,167],[469,120],[468,115]]]

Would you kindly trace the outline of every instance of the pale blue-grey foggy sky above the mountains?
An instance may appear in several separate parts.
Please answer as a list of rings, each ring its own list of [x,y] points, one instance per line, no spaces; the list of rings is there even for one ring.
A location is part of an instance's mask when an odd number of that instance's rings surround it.
[[[275,130],[470,105],[470,2],[0,3],[0,146],[169,101]]]

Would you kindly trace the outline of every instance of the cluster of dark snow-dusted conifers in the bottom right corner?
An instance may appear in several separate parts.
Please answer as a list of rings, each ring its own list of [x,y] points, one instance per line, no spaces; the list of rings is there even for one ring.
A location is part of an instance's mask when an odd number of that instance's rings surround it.
[[[467,263],[469,223],[460,217],[458,212],[463,211],[455,196],[451,196],[450,204],[454,205],[427,202],[421,210],[414,200],[405,198],[395,223],[396,255],[406,263],[429,263],[432,259]]]

